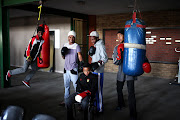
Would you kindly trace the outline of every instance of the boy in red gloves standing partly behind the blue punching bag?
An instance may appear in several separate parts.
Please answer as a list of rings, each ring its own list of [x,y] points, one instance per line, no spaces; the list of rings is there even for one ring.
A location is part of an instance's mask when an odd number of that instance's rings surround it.
[[[137,119],[136,112],[136,98],[135,98],[135,90],[134,90],[134,80],[137,78],[134,76],[125,75],[123,73],[123,53],[124,53],[124,29],[121,29],[117,33],[117,40],[120,44],[114,47],[113,51],[113,63],[115,65],[119,65],[118,73],[117,73],[117,93],[118,93],[118,106],[116,110],[122,110],[125,107],[125,102],[123,98],[122,89],[124,86],[124,82],[127,81],[128,88],[128,102],[129,102],[129,110],[130,110],[130,119]]]

